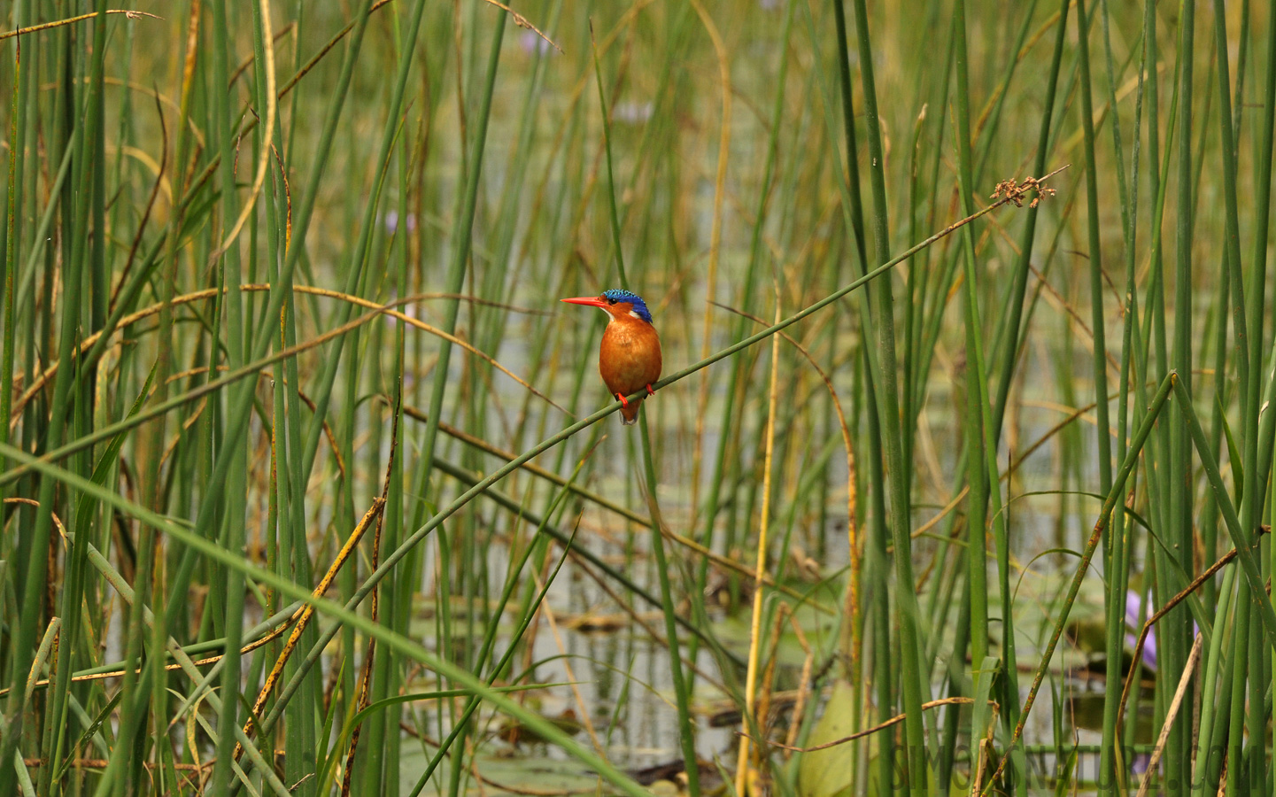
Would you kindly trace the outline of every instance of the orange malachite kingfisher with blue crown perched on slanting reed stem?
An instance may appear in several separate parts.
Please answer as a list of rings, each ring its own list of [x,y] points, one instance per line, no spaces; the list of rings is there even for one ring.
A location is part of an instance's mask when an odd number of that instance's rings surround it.
[[[601,307],[607,314],[607,328],[598,347],[598,372],[607,393],[620,399],[620,416],[625,426],[638,421],[642,398],[627,399],[643,388],[655,395],[652,385],[660,379],[660,335],[651,323],[651,311],[641,296],[623,288],[611,288],[598,296],[564,298],[573,305]]]

